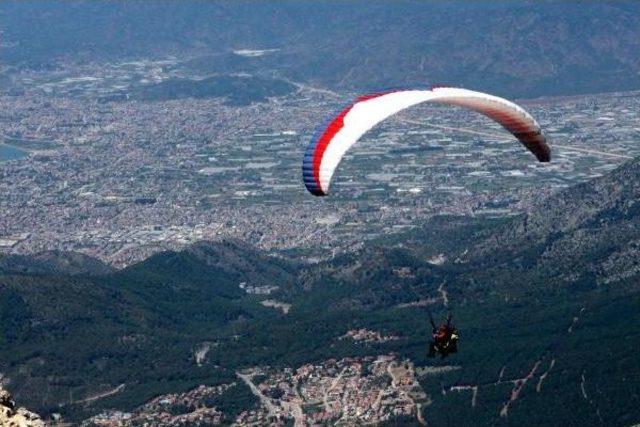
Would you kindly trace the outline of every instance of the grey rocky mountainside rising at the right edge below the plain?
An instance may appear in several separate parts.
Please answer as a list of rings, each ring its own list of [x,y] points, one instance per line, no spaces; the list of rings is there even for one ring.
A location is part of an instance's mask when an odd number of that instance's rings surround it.
[[[475,255],[504,250],[535,260],[548,278],[580,271],[600,284],[640,273],[640,162],[542,200],[476,245]],[[529,259],[527,259],[529,258]],[[564,262],[558,265],[557,260]],[[513,261],[512,261],[513,262]],[[554,270],[555,267],[555,270]]]

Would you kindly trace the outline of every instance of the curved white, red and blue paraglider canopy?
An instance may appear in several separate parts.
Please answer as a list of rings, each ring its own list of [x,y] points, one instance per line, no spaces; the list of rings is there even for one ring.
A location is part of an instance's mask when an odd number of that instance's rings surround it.
[[[397,90],[357,98],[319,130],[302,162],[307,190],[316,196],[327,195],[340,160],[362,135],[386,118],[424,102],[457,105],[482,113],[511,132],[539,161],[551,160],[551,151],[538,122],[511,101],[453,87]]]

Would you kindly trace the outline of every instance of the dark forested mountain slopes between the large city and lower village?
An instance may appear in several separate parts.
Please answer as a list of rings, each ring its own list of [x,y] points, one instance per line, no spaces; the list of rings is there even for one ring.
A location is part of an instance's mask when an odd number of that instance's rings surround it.
[[[77,421],[250,366],[392,351],[460,367],[420,380],[431,425],[629,425],[640,420],[638,182],[634,160],[522,217],[436,218],[315,266],[234,241],[120,271],[77,254],[5,256],[0,372],[29,408]],[[428,312],[448,310],[461,351],[426,359]],[[399,338],[354,347],[338,339],[350,328]],[[226,402],[231,417],[256,404],[244,387]]]

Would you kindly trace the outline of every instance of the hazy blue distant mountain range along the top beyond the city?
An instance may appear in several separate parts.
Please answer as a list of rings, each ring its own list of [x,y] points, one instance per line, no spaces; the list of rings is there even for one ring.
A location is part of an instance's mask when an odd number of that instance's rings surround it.
[[[0,20],[4,73],[175,55],[205,75],[276,73],[358,91],[640,88],[636,1],[4,1]]]

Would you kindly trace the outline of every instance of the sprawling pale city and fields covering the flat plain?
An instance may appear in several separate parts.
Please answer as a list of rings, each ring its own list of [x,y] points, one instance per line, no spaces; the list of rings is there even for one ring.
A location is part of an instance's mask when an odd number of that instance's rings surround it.
[[[640,155],[637,92],[519,101],[548,136],[548,164],[479,114],[416,107],[365,135],[315,198],[304,148],[354,94],[296,84],[249,106],[127,99],[176,76],[195,79],[175,59],[15,77],[20,95],[0,96],[1,250],[123,267],[237,238],[315,262],[433,215],[515,215]]]

